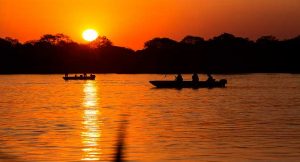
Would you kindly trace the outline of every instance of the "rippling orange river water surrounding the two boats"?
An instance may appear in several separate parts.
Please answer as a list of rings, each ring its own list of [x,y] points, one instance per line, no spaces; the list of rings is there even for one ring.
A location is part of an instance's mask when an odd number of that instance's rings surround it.
[[[182,90],[148,83],[173,75],[61,77],[0,76],[0,161],[111,161],[124,125],[127,161],[300,161],[298,74]]]

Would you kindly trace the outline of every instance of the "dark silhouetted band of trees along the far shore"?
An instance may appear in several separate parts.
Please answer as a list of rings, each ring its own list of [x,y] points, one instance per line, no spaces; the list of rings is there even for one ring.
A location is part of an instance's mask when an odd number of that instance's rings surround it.
[[[20,43],[0,38],[0,73],[299,73],[300,36],[256,41],[224,33],[209,40],[154,38],[134,51],[106,37],[78,44],[63,34]]]

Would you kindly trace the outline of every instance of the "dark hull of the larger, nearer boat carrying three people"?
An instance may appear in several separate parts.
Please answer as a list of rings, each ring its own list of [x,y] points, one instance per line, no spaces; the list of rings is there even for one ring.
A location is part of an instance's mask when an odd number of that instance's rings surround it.
[[[152,80],[149,81],[152,85],[157,88],[224,88],[226,87],[227,80],[221,79],[219,81],[163,81],[163,80]]]

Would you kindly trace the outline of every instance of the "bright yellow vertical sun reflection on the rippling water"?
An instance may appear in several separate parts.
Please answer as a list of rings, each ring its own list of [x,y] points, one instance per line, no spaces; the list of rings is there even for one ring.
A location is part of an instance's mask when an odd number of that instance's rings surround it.
[[[83,106],[83,127],[81,133],[83,144],[83,161],[100,160],[101,149],[99,148],[99,140],[101,138],[101,129],[99,126],[99,110],[97,87],[94,81],[88,81],[84,84],[84,101]]]

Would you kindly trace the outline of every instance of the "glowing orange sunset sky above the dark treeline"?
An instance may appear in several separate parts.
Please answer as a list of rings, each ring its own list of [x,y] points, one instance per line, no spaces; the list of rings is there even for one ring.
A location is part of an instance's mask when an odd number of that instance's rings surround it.
[[[84,42],[86,28],[133,49],[157,36],[284,39],[300,35],[300,0],[0,0],[0,37],[64,33]]]

